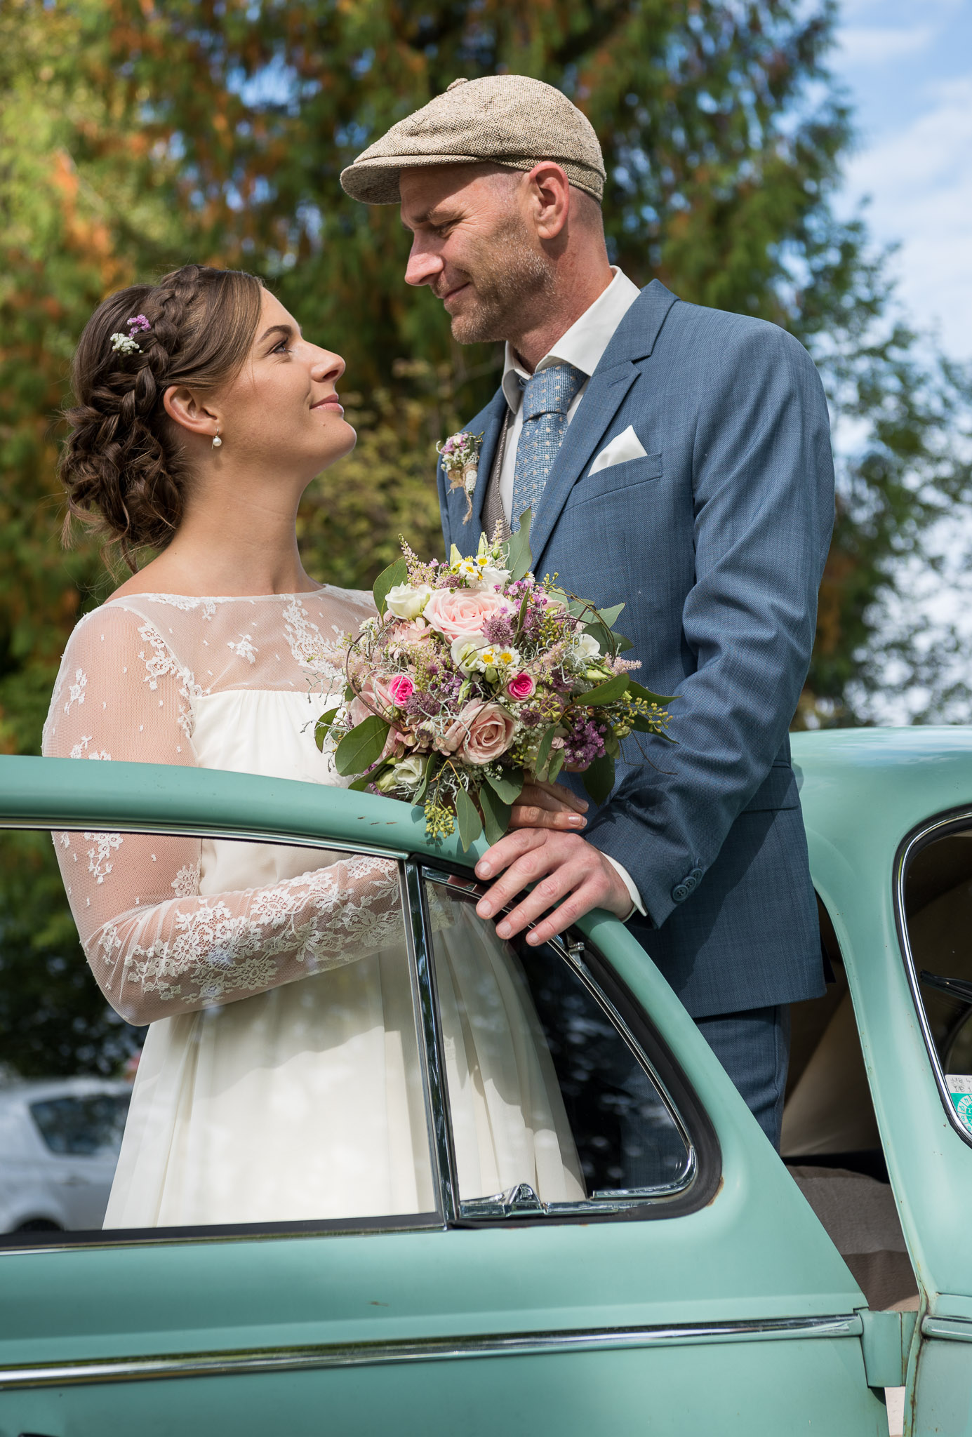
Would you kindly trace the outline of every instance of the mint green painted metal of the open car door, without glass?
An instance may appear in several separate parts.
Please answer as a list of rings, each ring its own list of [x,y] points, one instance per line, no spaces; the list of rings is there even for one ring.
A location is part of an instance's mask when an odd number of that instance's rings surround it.
[[[175,826],[472,861],[454,839],[430,844],[421,815],[403,803],[244,775],[1,759],[0,792],[7,826]],[[290,1431],[309,1420],[305,1403],[318,1420],[322,1405],[335,1414],[335,1430],[394,1421],[443,1437],[496,1423],[579,1437],[605,1423],[627,1430],[653,1410],[659,1430],[673,1433],[694,1430],[696,1410],[699,1433],[775,1437],[807,1430],[807,1413],[828,1433],[881,1431],[856,1315],[864,1298],[843,1259],[644,950],[602,914],[579,927],[650,1012],[712,1118],[722,1180],[706,1206],[659,1220],[480,1230],[124,1244],[105,1234],[104,1246],[0,1253],[0,1424],[60,1433],[68,1428],[45,1415],[59,1410],[70,1413],[72,1434],[93,1437],[134,1414],[147,1433],[175,1420],[201,1433],[213,1430],[210,1404],[223,1401],[213,1394],[233,1392],[223,1417],[231,1411],[237,1431],[263,1431],[267,1394],[280,1388],[290,1394]],[[781,1319],[804,1329],[782,1332],[772,1326]],[[758,1331],[765,1323],[769,1331]],[[713,1332],[717,1325],[729,1332]],[[571,1351],[578,1334],[587,1345]],[[503,1346],[541,1338],[546,1345],[531,1355]],[[428,1339],[460,1351],[453,1361],[403,1354],[403,1344]],[[470,1355],[470,1341],[487,1354]],[[348,1344],[387,1351],[358,1348],[354,1369],[322,1355]],[[82,1371],[98,1359],[191,1365],[223,1354],[243,1374],[247,1352],[293,1348],[316,1357],[289,1378],[211,1372],[147,1388],[131,1367],[118,1381]],[[24,1377],[37,1364],[68,1365],[73,1377],[68,1385],[55,1372]],[[59,1408],[45,1387],[52,1380]],[[600,1394],[597,1413],[591,1394]],[[142,1420],[150,1407],[157,1427]]]

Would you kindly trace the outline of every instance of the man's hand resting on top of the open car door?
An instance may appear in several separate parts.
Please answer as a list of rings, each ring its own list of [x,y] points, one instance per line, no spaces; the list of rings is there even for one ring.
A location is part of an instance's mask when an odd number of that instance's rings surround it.
[[[569,928],[591,908],[607,908],[618,918],[631,911],[631,895],[617,868],[579,833],[528,828],[506,833],[479,859],[476,877],[496,878],[476,904],[480,918],[492,918],[533,884],[496,924],[500,938],[512,938],[541,914],[546,917],[526,935],[533,946]]]

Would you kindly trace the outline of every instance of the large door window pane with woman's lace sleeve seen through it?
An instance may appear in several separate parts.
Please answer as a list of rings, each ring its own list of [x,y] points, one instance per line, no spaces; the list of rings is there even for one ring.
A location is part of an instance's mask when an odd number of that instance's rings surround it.
[[[436,1221],[400,865],[0,833],[3,1234]]]

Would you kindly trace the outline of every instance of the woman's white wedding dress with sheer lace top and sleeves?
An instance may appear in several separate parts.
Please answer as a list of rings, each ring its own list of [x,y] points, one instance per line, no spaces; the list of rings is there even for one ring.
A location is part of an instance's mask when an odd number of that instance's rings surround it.
[[[332,588],[111,599],[70,637],[43,752],[339,785],[313,720],[342,684],[335,637],[371,612]],[[394,861],[181,835],[55,842],[105,997],[151,1025],[105,1227],[434,1207]],[[460,1190],[584,1196],[515,961],[462,915],[440,937]]]

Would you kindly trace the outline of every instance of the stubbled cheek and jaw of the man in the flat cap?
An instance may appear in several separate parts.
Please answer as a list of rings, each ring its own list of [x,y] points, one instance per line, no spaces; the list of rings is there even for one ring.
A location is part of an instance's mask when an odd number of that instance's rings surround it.
[[[451,318],[460,345],[515,341],[531,328],[529,316],[542,310],[555,282],[554,264],[529,243],[519,214],[508,214],[470,247],[463,273],[473,296]]]

